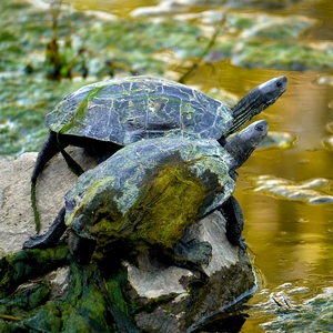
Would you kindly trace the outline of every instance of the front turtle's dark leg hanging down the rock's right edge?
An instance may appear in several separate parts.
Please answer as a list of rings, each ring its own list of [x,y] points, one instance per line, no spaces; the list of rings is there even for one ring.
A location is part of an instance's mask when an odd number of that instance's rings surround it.
[[[240,203],[234,196],[230,196],[220,208],[222,215],[226,220],[226,238],[233,245],[246,250],[242,231],[244,228],[244,216]]]

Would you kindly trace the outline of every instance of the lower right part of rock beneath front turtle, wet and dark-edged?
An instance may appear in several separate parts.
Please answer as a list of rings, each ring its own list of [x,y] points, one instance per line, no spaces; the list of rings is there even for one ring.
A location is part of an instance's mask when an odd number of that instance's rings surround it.
[[[184,238],[212,244],[213,255],[208,266],[201,266],[200,271],[162,266],[148,254],[141,258],[139,268],[124,264],[132,301],[159,304],[151,312],[135,314],[137,325],[144,332],[192,332],[256,287],[249,258],[228,242],[225,219],[219,211],[190,226]]]

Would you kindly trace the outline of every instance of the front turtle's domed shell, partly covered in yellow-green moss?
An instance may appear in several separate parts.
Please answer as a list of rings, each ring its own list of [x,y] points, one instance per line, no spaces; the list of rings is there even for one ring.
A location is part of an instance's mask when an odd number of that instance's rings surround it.
[[[215,140],[158,138],[132,143],[79,176],[64,196],[65,224],[83,238],[94,238],[101,228],[114,231],[115,236],[120,229],[140,220],[145,210],[144,218],[161,225],[170,225],[171,220],[185,214],[183,232],[188,223],[232,195],[235,183],[229,174],[231,161]],[[158,216],[153,215],[155,208]],[[168,218],[160,212],[163,209]]]

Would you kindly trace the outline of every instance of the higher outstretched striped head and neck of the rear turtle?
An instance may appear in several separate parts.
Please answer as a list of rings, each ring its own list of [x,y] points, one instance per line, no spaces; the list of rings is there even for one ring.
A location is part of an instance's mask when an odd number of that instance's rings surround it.
[[[286,90],[286,85],[287,79],[279,77],[251,90],[232,108],[233,125],[225,137],[234,133],[251,118],[275,103]]]

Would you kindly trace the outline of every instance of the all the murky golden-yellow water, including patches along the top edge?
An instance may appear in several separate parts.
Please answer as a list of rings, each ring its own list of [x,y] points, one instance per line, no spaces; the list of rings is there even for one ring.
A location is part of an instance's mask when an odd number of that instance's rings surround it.
[[[125,18],[135,8],[157,2],[127,1],[123,7],[123,1],[115,0],[71,1],[78,9],[97,9]],[[200,6],[200,10],[203,9]],[[221,10],[216,7],[206,9]],[[181,11],[184,12],[183,8]],[[251,8],[232,11],[254,12]],[[274,11],[256,7],[255,12],[316,19],[316,24],[303,33],[303,41],[309,44],[321,41],[320,48],[333,43],[331,0],[300,1]],[[170,61],[170,70],[182,71],[178,65]],[[271,293],[279,299],[283,292],[293,306],[300,306],[295,312],[286,306],[286,315],[322,311],[323,307],[313,305],[316,303],[312,299],[317,295],[329,295],[332,300],[333,63],[321,70],[290,71],[249,69],[222,59],[213,65],[200,67],[188,82],[206,92],[219,88],[241,98],[253,87],[282,74],[289,79],[286,93],[258,119],[266,119],[272,132],[287,133],[294,142],[284,149],[262,148],[239,170],[235,196],[245,215],[244,236],[262,274],[262,289],[249,303],[252,306],[250,317],[241,332],[285,329],[285,316],[279,312],[283,306],[270,297]],[[330,304],[326,307],[332,306]],[[261,326],[280,316],[278,327]],[[301,323],[299,325],[307,324],[305,320]],[[333,321],[331,324],[333,327]],[[297,323],[295,325],[297,327]],[[330,319],[325,327],[330,327]],[[286,332],[305,332],[307,329],[293,330]]]

